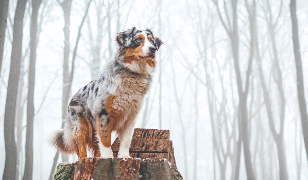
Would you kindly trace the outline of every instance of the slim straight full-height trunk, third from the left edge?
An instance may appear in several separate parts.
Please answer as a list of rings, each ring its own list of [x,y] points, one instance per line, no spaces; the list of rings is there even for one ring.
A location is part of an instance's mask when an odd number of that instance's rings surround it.
[[[27,94],[27,130],[26,130],[26,162],[23,179],[32,179],[33,168],[33,121],[34,121],[34,84],[35,61],[37,46],[37,20],[41,0],[32,0],[32,15],[30,28],[30,63]]]

